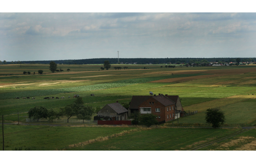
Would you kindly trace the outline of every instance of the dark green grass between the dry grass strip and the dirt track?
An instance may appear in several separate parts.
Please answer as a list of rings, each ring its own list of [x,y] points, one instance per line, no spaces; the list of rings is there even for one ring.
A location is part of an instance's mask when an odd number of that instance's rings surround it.
[[[224,137],[238,129],[195,129],[195,128],[153,128],[125,134],[86,146],[74,147],[72,150],[104,151],[174,151],[187,150],[200,143]],[[120,144],[122,142],[122,144]]]

